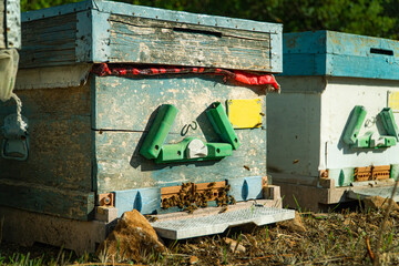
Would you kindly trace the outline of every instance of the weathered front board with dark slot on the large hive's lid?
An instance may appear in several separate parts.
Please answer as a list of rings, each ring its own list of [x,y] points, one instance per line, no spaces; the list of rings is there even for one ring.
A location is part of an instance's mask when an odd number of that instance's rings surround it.
[[[110,16],[112,62],[272,71],[270,34]]]

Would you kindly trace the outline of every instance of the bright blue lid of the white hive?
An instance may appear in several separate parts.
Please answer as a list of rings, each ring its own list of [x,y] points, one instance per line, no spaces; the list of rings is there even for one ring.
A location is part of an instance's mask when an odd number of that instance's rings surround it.
[[[286,33],[283,75],[399,80],[399,42],[335,31]]]

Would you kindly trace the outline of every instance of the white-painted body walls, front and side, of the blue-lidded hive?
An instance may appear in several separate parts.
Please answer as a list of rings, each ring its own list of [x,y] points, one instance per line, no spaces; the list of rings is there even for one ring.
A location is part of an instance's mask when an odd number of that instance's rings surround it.
[[[399,91],[398,81],[355,78],[278,76],[280,95],[267,95],[268,167],[273,172],[318,177],[319,170],[399,163],[399,145],[354,151],[341,134],[356,105],[367,110],[360,134],[372,130],[387,108],[388,91]],[[399,123],[399,114],[395,114]],[[295,163],[293,163],[295,162]]]

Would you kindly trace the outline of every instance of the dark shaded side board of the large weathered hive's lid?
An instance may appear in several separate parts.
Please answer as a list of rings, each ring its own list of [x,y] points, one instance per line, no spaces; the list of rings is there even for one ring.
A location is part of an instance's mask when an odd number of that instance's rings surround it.
[[[76,13],[23,22],[20,68],[75,63],[75,38]]]

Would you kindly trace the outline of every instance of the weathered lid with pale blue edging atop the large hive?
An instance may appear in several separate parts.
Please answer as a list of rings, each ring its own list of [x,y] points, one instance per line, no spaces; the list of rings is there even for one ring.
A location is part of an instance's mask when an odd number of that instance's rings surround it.
[[[88,0],[22,14],[21,68],[145,63],[282,72],[277,23]]]

